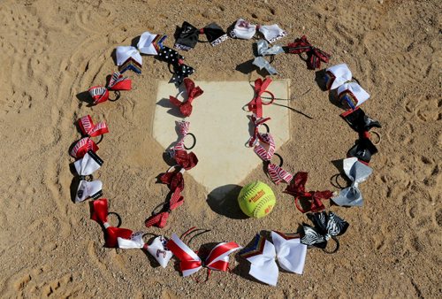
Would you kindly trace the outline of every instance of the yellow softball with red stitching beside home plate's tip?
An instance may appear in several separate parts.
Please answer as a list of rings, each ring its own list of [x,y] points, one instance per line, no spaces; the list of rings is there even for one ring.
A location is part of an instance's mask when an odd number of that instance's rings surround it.
[[[271,212],[276,198],[269,186],[256,180],[241,189],[238,203],[248,217],[262,218]]]

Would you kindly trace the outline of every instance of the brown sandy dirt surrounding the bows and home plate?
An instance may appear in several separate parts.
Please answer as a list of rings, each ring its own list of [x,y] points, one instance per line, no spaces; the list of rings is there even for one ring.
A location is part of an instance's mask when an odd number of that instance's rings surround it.
[[[438,1],[3,1],[0,4],[0,119],[4,157],[0,173],[0,294],[2,297],[440,297],[442,211],[440,129],[440,17]],[[105,119],[110,134],[100,143],[110,211],[123,226],[153,234],[210,228],[194,240],[246,246],[261,230],[294,232],[305,215],[293,198],[272,185],[278,204],[269,217],[234,219],[234,198],[222,211],[186,175],[186,203],[164,229],[144,220],[164,200],[156,176],[167,165],[153,140],[157,80],[168,80],[164,63],[143,58],[133,90],[115,103],[88,107],[84,91],[116,70],[117,45],[148,30],[173,32],[183,20],[228,27],[245,18],[278,23],[289,32],[281,43],[308,35],[347,63],[371,98],[363,109],[383,124],[374,173],[362,184],[362,208],[331,211],[350,223],[334,255],[309,249],[304,274],[281,272],[278,287],[251,280],[248,265],[232,257],[232,273],[214,272],[206,283],[183,279],[171,265],[158,267],[141,250],[103,248],[103,232],[89,219],[88,203],[72,203],[72,158],[80,134],[73,123],[90,114]],[[252,59],[253,41],[200,43],[184,53],[194,80],[250,80],[236,71]],[[296,55],[279,55],[276,79],[290,79],[291,103],[313,119],[291,113],[291,142],[280,150],[286,169],[309,172],[308,188],[331,188],[332,161],[345,157],[356,134],[341,110],[315,83],[315,72]],[[305,91],[310,90],[305,96]],[[227,116],[225,116],[227,117]],[[271,181],[257,167],[243,183]],[[327,203],[328,205],[328,203]],[[231,209],[231,210],[229,210]],[[111,219],[115,221],[115,219]]]

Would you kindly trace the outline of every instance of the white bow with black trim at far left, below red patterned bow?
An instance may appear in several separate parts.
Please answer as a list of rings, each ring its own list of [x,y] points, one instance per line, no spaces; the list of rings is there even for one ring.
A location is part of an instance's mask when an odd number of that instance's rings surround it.
[[[80,203],[85,199],[92,197],[97,199],[103,196],[101,180],[87,180],[96,170],[103,165],[103,160],[92,150],[89,150],[84,157],[74,162],[75,171],[80,176],[79,186],[75,194],[75,203]]]

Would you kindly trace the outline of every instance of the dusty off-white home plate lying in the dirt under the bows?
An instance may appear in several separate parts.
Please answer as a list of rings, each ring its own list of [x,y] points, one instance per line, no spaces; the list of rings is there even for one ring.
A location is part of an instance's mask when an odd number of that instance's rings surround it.
[[[248,81],[195,81],[195,86],[200,86],[204,93],[194,99],[192,115],[186,120],[190,121],[189,132],[196,137],[192,151],[199,162],[188,173],[207,188],[208,193],[221,190],[216,196],[222,197],[246,179],[256,166],[263,164],[253,149],[245,146],[250,137],[248,115],[251,112],[244,111],[243,107],[255,92]],[[289,80],[273,80],[268,88],[280,99],[290,98],[289,89]],[[183,118],[179,116],[179,108],[169,103],[169,96],[177,96],[177,88],[160,81],[157,90],[153,135],[164,149],[168,149],[178,139],[176,121]],[[186,91],[184,93],[187,98]],[[182,95],[177,97],[183,100]],[[288,104],[284,100],[275,103]],[[274,104],[263,105],[263,116],[271,117],[266,124],[278,149],[290,139],[288,109]],[[186,144],[190,146],[192,137],[187,136],[187,139]]]

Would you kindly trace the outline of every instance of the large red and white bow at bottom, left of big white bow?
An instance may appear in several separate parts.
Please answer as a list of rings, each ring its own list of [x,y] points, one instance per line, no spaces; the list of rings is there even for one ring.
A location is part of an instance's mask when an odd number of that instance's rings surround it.
[[[209,270],[227,271],[229,255],[233,251],[241,249],[240,245],[235,242],[219,243],[210,251],[206,260],[202,261],[192,249],[179,239],[177,234],[171,235],[171,240],[167,242],[166,246],[178,257],[179,268],[184,277],[194,274],[202,267],[209,268]]]

